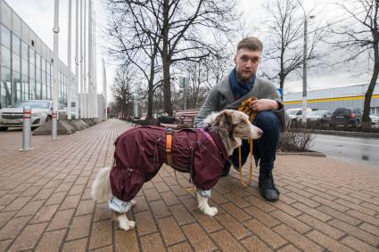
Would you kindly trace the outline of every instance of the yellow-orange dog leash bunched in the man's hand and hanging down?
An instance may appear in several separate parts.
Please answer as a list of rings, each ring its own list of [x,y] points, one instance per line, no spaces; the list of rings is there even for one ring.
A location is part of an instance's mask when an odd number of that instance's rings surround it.
[[[243,101],[243,103],[238,107],[238,111],[242,111],[246,115],[249,116],[249,121],[252,123],[257,116],[257,113],[251,110],[250,102],[257,100],[256,97],[252,96],[249,99],[246,99]],[[252,139],[249,139],[250,144],[250,171],[249,171],[249,185],[251,185],[252,180],[252,155],[253,155],[253,141]],[[240,181],[243,184],[243,186],[246,186],[246,183],[243,181],[243,169],[242,169],[242,154],[241,154],[241,146],[238,147],[238,169],[240,173]]]

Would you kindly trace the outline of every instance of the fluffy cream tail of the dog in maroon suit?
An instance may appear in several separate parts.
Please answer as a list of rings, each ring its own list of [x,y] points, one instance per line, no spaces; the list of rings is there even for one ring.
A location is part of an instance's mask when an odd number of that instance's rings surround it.
[[[112,160],[111,167],[105,167],[99,170],[96,175],[95,181],[92,184],[91,196],[92,199],[97,201],[107,201],[113,197],[111,194],[111,168],[114,166],[114,159]]]

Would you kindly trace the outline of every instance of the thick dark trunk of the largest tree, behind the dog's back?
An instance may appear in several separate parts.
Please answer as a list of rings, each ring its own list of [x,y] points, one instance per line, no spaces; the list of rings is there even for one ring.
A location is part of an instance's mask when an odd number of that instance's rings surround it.
[[[163,97],[164,111],[172,116],[171,84],[169,76],[169,66],[171,59],[169,56],[169,0],[163,1],[163,32],[162,32],[162,64],[163,64]]]

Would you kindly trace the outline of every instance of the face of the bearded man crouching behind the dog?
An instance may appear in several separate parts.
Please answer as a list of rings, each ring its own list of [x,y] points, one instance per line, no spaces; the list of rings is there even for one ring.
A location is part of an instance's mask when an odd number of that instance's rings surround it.
[[[235,74],[241,84],[251,81],[260,65],[260,51],[241,48],[235,55]]]

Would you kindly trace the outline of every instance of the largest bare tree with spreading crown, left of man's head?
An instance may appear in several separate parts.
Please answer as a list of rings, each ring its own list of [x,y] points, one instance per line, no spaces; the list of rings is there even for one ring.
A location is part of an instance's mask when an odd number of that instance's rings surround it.
[[[217,30],[230,33],[237,19],[235,0],[108,0],[122,4],[134,17],[136,37],[146,36],[161,56],[163,71],[164,110],[172,115],[172,64],[179,61],[199,61],[212,52],[206,37]],[[159,38],[159,39],[155,39]]]

